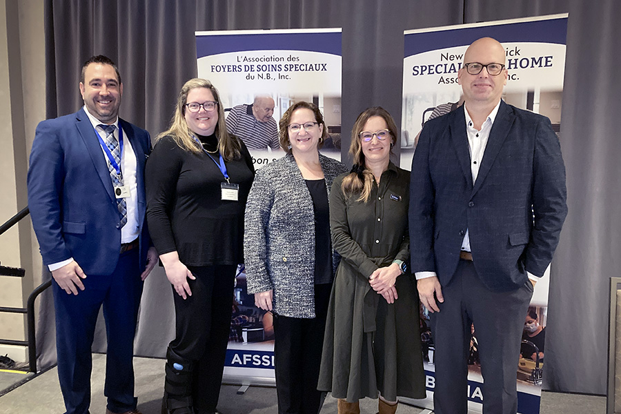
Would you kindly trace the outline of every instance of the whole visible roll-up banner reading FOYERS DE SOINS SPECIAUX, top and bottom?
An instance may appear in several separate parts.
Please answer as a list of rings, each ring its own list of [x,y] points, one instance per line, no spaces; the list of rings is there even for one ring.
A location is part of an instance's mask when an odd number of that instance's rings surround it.
[[[330,138],[321,152],[341,159],[340,28],[195,34],[198,77],[219,90],[227,129],[244,140],[256,169],[285,155],[278,148],[277,124],[297,101],[313,102],[322,110]],[[265,98],[273,99],[271,117],[260,111],[270,103]],[[246,292],[243,265],[237,268],[231,301],[224,382],[274,385],[271,314],[256,308],[253,295]]]

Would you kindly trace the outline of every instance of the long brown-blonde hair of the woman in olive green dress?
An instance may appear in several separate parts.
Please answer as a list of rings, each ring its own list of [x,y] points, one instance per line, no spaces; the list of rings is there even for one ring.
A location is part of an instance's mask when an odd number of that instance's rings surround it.
[[[358,115],[353,129],[351,130],[351,145],[349,146],[349,153],[354,164],[351,168],[351,172],[343,179],[341,189],[348,197],[351,197],[354,193],[360,193],[357,201],[364,201],[365,203],[368,201],[369,197],[371,197],[371,190],[373,190],[373,172],[366,168],[360,132],[362,132],[362,128],[364,128],[366,121],[372,117],[382,117],[384,121],[386,121],[388,131],[391,133],[391,148],[397,141],[397,125],[387,110],[381,106],[374,106],[373,108],[367,108]]]

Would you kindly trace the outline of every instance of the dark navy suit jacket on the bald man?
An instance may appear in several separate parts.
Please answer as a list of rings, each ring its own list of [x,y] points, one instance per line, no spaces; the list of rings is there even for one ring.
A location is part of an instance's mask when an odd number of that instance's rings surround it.
[[[515,290],[526,271],[543,275],[567,214],[558,137],[548,118],[501,101],[475,183],[470,162],[463,108],[425,124],[412,161],[412,270],[446,286],[467,229],[482,282]]]

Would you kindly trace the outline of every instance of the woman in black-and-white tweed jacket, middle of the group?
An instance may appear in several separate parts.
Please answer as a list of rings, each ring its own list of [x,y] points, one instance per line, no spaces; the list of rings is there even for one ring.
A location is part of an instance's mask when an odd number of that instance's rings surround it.
[[[322,113],[297,102],[280,120],[282,159],[257,172],[248,195],[244,257],[248,293],[274,315],[278,411],[317,414],[319,363],[335,259],[328,192],[343,164],[319,154]]]

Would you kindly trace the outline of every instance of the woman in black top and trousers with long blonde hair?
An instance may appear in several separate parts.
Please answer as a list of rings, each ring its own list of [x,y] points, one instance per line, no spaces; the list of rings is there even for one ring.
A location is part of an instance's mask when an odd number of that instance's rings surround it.
[[[162,411],[215,413],[255,170],[244,143],[226,132],[209,81],[181,88],[145,174],[149,231],[175,300]]]

